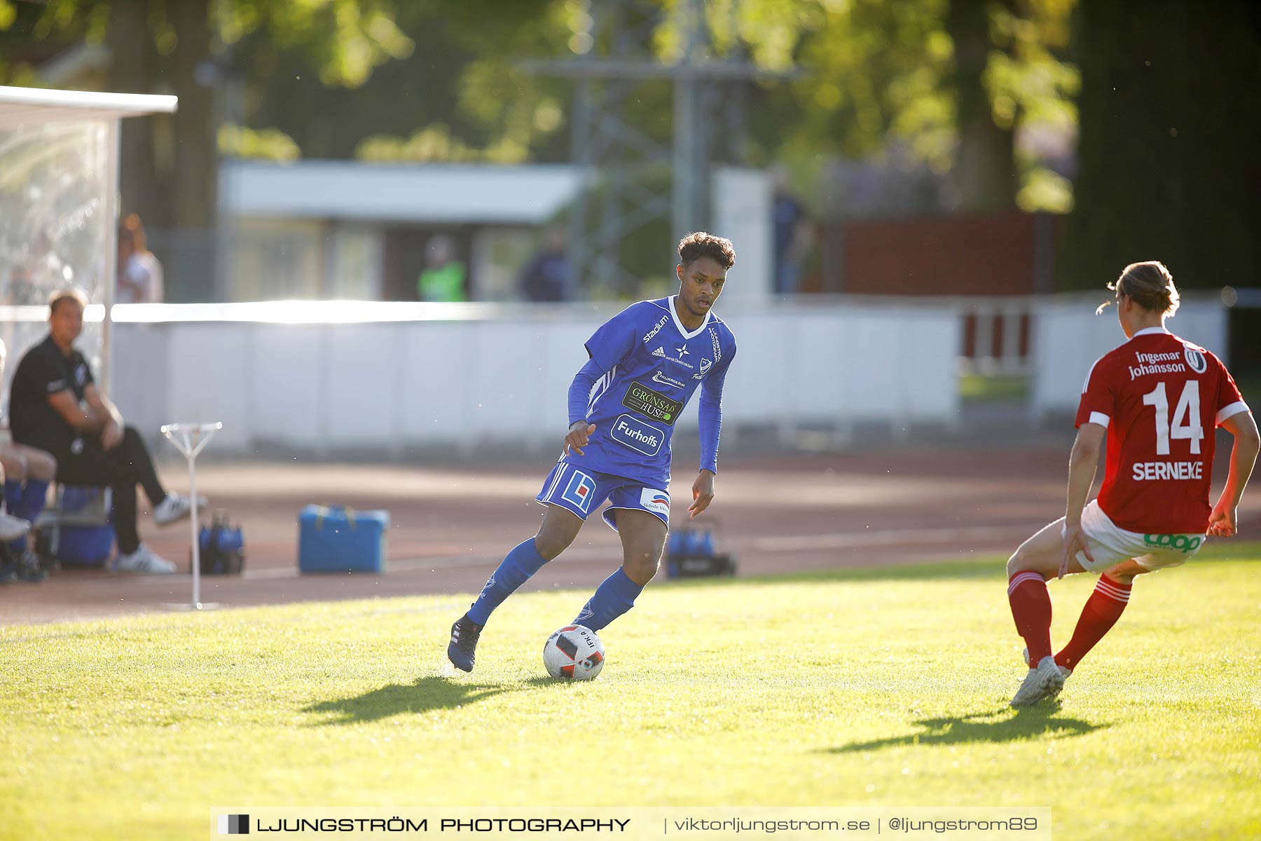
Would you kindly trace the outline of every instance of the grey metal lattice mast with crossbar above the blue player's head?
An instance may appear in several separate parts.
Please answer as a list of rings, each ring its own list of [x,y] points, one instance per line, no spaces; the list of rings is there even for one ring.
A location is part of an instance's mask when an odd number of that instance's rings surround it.
[[[736,32],[738,5],[730,6]],[[710,177],[715,137],[721,136],[729,160],[740,160],[745,146],[745,90],[759,78],[786,78],[758,68],[734,48],[716,61],[710,55],[702,0],[681,0],[675,15],[682,54],[663,64],[653,37],[666,11],[648,0],[589,0],[586,26],[570,40],[574,58],[531,61],[523,67],[538,76],[571,78],[574,112],[571,156],[579,170],[578,192],[569,214],[569,258],[575,279],[604,293],[638,291],[642,277],[627,267],[620,243],[630,233],[667,221],[672,236],[709,226]],[[630,125],[623,105],[637,82],[668,81],[673,90],[672,145]],[[654,168],[672,174],[670,192],[643,178]],[[662,267],[673,275],[673,243],[662,243]]]

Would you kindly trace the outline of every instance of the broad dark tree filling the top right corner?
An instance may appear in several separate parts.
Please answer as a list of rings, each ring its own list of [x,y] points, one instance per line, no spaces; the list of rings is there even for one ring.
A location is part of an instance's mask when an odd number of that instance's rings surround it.
[[[1064,289],[1140,260],[1179,286],[1261,271],[1261,11],[1246,0],[1083,4],[1081,171]]]

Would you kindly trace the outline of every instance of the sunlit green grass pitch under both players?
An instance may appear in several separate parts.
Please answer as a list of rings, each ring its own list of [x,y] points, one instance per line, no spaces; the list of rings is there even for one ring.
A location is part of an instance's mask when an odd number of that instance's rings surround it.
[[[1261,835],[1261,545],[1140,579],[1061,705],[1001,562],[654,585],[594,682],[540,651],[586,593],[0,628],[0,836],[204,837],[212,806],[1050,806],[1057,838]],[[543,570],[541,574],[547,575]],[[1055,641],[1093,586],[1052,584]],[[580,786],[579,786],[580,784]]]

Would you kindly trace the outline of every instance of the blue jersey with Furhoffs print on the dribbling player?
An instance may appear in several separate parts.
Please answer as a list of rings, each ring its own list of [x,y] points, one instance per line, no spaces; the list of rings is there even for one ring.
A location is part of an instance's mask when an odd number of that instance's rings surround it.
[[[711,311],[685,330],[671,296],[625,308],[588,339],[586,352],[604,372],[585,414],[595,431],[583,455],[562,460],[666,488],[675,424],[697,387],[702,406],[721,397],[735,337]]]

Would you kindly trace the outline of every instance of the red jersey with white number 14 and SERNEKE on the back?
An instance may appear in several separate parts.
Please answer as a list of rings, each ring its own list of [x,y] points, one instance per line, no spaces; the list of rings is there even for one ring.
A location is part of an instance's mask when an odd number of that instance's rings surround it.
[[[1086,374],[1077,426],[1107,427],[1098,503],[1141,535],[1208,528],[1216,430],[1248,411],[1222,361],[1164,328],[1139,330]]]

